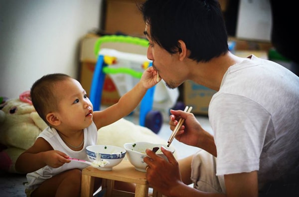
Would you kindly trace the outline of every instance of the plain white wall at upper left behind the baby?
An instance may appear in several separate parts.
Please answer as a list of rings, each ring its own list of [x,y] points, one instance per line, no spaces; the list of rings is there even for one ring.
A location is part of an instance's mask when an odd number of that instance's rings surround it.
[[[99,28],[102,0],[0,0],[0,96],[18,97],[42,75],[78,79],[80,39]]]

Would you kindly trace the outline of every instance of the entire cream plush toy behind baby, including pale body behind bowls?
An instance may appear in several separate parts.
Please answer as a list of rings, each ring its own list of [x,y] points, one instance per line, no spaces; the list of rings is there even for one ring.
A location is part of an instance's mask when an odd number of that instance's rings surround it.
[[[47,127],[35,111],[29,92],[18,99],[2,99],[0,104],[0,170],[17,173],[14,164],[18,156],[33,145],[38,134]],[[123,147],[126,142],[148,141],[167,144],[146,127],[121,119],[98,131],[98,144]],[[176,156],[176,155],[175,155]]]

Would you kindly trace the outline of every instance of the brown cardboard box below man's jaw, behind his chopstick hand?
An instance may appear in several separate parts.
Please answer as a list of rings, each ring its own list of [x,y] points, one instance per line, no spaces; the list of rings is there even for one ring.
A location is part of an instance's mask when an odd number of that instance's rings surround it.
[[[185,105],[192,106],[192,113],[195,115],[208,115],[209,103],[216,91],[190,80],[183,85]]]

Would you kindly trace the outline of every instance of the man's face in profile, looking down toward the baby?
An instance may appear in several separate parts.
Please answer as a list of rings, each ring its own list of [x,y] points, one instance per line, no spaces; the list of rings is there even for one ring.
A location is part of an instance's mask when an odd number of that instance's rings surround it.
[[[170,54],[156,42],[151,40],[150,27],[146,25],[145,35],[149,40],[147,57],[152,61],[152,67],[157,70],[160,77],[165,81],[166,86],[173,89],[178,87],[181,81],[181,63],[178,59],[178,53]],[[180,67],[180,69],[176,69]]]

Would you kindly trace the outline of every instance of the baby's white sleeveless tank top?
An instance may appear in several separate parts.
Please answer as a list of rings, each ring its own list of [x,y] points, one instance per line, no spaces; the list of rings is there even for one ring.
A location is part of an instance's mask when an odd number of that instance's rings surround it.
[[[86,129],[83,130],[84,132],[84,145],[83,148],[79,151],[74,151],[70,149],[61,139],[58,132],[54,128],[47,127],[44,131],[42,131],[38,137],[44,138],[50,145],[53,147],[54,150],[59,150],[64,152],[65,154],[69,155],[70,157],[89,160],[86,154],[86,147],[89,145],[94,145],[97,142],[98,138],[98,130],[94,122]],[[88,164],[71,161],[70,163],[65,163],[59,168],[52,168],[49,166],[45,166],[40,168],[39,170],[28,173],[27,174],[27,181],[28,183],[25,184],[25,188],[32,190],[37,188],[42,182],[46,179],[49,179],[61,172],[70,169],[83,169],[87,167]]]

